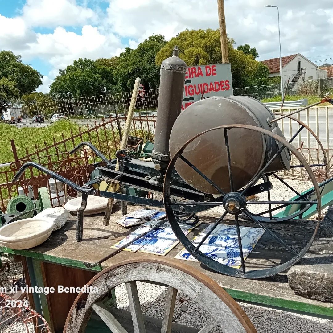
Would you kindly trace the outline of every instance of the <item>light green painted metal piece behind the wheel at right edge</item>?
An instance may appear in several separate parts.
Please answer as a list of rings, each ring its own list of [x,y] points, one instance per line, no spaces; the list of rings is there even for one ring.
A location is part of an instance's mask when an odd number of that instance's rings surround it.
[[[310,190],[312,190],[313,187],[310,188]],[[321,189],[320,189],[321,190]],[[300,193],[301,195],[308,192],[309,189],[307,189],[306,191]],[[294,200],[298,200],[299,196],[296,195],[294,197],[292,197],[290,199],[290,201],[294,201]],[[312,194],[310,196],[309,200],[316,200],[316,194]],[[324,185],[324,189],[321,193],[321,209],[328,207],[329,205],[331,205],[333,203],[333,181],[328,182],[326,185]],[[275,214],[273,217],[286,217],[286,216],[290,216],[292,214],[295,214],[296,212],[300,211],[301,209],[301,205],[300,204],[290,204],[288,205],[282,212],[279,212],[277,214]],[[307,219],[310,216],[316,214],[318,212],[317,210],[317,205],[311,205],[303,214],[302,214],[302,219]],[[299,219],[300,217],[294,217],[294,219]]]

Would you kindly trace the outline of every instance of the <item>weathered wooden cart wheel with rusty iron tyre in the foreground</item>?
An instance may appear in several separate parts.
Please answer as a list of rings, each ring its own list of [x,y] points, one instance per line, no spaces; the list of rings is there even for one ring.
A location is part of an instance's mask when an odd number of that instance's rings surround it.
[[[84,332],[93,311],[113,333],[146,333],[147,317],[142,314],[136,281],[156,282],[168,287],[163,320],[160,320],[159,328],[154,329],[156,332],[173,331],[171,325],[178,290],[195,300],[211,316],[199,333],[208,333],[215,326],[220,326],[225,333],[256,332],[239,305],[206,275],[191,266],[180,266],[174,260],[142,258],[113,265],[91,279],[87,286],[98,288],[98,292],[78,295],[68,314],[64,333]],[[130,303],[131,329],[125,329],[113,315],[112,308],[107,308],[102,302],[113,288],[122,283],[126,284]]]

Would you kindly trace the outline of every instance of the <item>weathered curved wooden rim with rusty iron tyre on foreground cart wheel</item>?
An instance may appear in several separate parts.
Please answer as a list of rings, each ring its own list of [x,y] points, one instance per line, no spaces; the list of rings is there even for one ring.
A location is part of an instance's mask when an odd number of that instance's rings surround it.
[[[214,302],[214,306],[210,306],[210,309],[207,308],[207,306],[203,306],[203,308],[208,311],[213,320],[216,321],[214,326],[217,324],[221,325],[226,333],[256,332],[249,318],[239,305],[222,287],[206,275],[190,266],[180,266],[175,260],[167,260],[166,258],[163,258],[163,260],[158,258],[137,258],[117,263],[103,270],[86,284],[87,286],[98,287],[100,290],[103,290],[103,292],[101,295],[80,293],[77,296],[67,317],[64,333],[82,332],[87,325],[93,309],[95,310],[93,307],[94,304],[104,295],[107,295],[112,288],[121,283],[126,283],[127,289],[134,287],[132,291],[135,292],[136,284],[133,282],[136,280],[162,283],[169,286],[169,288],[171,287],[182,292],[187,288],[190,294],[186,291],[184,293],[190,298],[195,299],[201,306],[202,303],[205,304],[207,299],[211,297],[209,302],[210,305]],[[168,289],[168,292],[169,290],[170,289]],[[173,314],[173,311],[171,312]],[[134,322],[135,315],[132,314],[132,318]],[[213,327],[211,327],[211,329]],[[135,331],[145,332],[145,329]],[[119,330],[119,332],[121,332],[121,330]]]

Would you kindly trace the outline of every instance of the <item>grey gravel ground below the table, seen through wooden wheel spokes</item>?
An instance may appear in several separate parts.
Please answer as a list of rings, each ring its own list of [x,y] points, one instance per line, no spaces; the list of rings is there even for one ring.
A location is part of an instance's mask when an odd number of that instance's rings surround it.
[[[144,315],[163,318],[166,287],[137,282],[141,308]],[[129,302],[125,284],[116,287],[117,307],[129,310]],[[333,332],[333,321],[310,317],[262,306],[241,303],[258,333],[328,333]],[[185,311],[183,311],[185,310]],[[201,329],[209,320],[210,315],[187,295],[178,293],[173,321]],[[223,333],[215,327],[212,332]]]

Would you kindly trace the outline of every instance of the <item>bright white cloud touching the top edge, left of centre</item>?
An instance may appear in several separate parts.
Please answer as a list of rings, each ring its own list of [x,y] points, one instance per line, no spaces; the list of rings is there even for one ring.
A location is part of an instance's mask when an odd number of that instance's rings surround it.
[[[79,6],[76,0],[27,0],[22,12],[34,27],[80,26],[97,20],[92,9]]]

